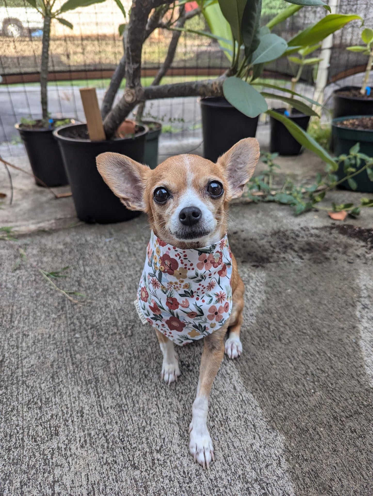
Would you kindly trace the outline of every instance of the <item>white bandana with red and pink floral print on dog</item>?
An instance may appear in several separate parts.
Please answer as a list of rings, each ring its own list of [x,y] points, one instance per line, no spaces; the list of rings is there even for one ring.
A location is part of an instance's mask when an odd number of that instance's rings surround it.
[[[183,250],[152,231],[134,302],[141,321],[179,345],[208,336],[232,310],[231,274],[226,235],[216,245]]]

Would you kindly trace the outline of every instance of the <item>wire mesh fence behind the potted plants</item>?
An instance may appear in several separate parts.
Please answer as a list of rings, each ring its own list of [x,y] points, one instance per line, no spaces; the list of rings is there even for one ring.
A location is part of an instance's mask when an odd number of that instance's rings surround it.
[[[193,8],[190,2],[190,7]],[[128,12],[131,2],[123,2]],[[262,24],[286,6],[284,0],[264,0]],[[340,0],[337,11],[357,13],[366,26],[373,25],[371,0]],[[302,8],[297,14],[276,26],[275,31],[286,40],[299,30],[325,15],[322,8]],[[125,22],[114,0],[66,12],[64,17],[73,24],[70,30],[53,21],[50,46],[49,107],[54,118],[75,118],[84,121],[79,87],[96,86],[101,103],[109,77],[123,55],[123,41],[118,26]],[[128,18],[128,17],[127,17]],[[328,72],[329,81],[338,80],[363,70],[366,57],[345,50],[360,43],[361,22],[353,21],[334,35]],[[202,15],[187,21],[186,27],[207,30]],[[17,142],[14,124],[21,117],[41,117],[39,71],[42,52],[42,16],[26,0],[0,0],[0,143]],[[144,44],[142,56],[143,84],[149,85],[163,63],[172,32],[157,29]],[[216,41],[193,33],[182,33],[174,61],[162,82],[185,81],[221,74],[229,65]],[[266,77],[288,81],[295,67],[286,58],[266,65]],[[302,75],[303,87],[312,96],[315,73],[307,68]],[[121,89],[125,82],[122,82]],[[287,84],[286,82],[283,83]],[[119,90],[119,94],[121,93]],[[163,121],[169,135],[198,135],[201,128],[199,104],[196,98],[167,99],[148,104],[146,114]],[[264,122],[264,120],[263,120]]]

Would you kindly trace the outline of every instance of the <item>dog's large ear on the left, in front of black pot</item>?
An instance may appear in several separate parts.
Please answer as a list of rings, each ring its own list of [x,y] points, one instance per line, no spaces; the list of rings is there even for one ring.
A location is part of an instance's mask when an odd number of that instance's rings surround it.
[[[146,210],[144,190],[149,167],[125,155],[111,152],[98,155],[96,163],[107,186],[127,208]]]

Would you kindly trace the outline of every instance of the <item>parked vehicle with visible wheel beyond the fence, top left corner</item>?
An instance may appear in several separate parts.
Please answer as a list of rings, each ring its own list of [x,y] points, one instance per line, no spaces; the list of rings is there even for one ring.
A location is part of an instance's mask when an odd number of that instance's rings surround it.
[[[43,16],[26,0],[0,0],[2,36],[18,38],[43,30]]]

